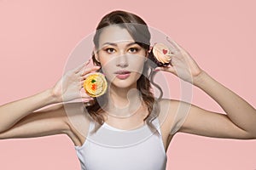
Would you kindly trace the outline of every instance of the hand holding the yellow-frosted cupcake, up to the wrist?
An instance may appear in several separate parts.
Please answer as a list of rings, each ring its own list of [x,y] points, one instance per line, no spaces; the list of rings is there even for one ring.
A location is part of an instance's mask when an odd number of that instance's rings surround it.
[[[100,69],[100,66],[92,66],[86,68],[90,64],[90,59],[82,65],[67,71],[61,79],[55,83],[55,86],[51,88],[52,95],[57,102],[67,102],[73,99],[83,99],[83,101],[89,101],[92,99],[84,91],[81,91],[84,85],[84,79],[90,72],[94,72]]]

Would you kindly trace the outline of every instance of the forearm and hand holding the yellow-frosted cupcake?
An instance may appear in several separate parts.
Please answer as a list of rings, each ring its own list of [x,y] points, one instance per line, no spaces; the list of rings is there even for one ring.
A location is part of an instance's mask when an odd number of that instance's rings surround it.
[[[81,93],[84,77],[91,71],[96,71],[98,67],[85,68],[90,61],[79,65],[61,77],[53,88],[49,88],[41,93],[32,95],[25,99],[16,100],[0,106],[0,133],[13,127],[24,117],[29,117],[34,111],[41,109],[46,105],[60,102],[67,102],[73,99],[90,100],[90,96]],[[60,108],[59,106],[55,108]],[[45,109],[49,112],[51,109]],[[44,112],[44,111],[41,111]]]

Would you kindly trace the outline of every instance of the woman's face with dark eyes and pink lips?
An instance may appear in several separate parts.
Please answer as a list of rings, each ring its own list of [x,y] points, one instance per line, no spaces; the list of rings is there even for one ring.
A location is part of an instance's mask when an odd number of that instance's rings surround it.
[[[135,88],[148,55],[129,32],[119,26],[108,26],[102,30],[95,54],[108,82],[119,88]]]

